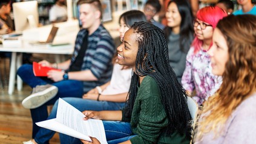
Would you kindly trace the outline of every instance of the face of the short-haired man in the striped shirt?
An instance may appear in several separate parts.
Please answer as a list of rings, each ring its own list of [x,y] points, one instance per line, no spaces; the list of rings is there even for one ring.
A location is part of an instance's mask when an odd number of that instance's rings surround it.
[[[79,12],[79,19],[82,22],[83,28],[87,28],[90,31],[91,29],[94,29],[94,27],[98,27],[95,22],[100,19],[100,11],[92,4],[81,4]]]

